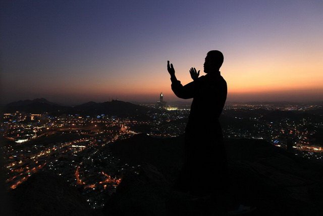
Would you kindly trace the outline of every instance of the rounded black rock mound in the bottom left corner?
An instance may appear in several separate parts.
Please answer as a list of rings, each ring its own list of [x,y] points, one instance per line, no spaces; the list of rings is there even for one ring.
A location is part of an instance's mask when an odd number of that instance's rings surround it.
[[[48,172],[32,175],[9,198],[13,215],[98,215],[76,188]]]

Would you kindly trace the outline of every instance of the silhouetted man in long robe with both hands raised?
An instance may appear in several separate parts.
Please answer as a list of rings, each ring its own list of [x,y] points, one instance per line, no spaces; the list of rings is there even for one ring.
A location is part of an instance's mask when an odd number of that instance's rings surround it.
[[[220,74],[223,54],[212,50],[204,63],[205,76],[190,69],[192,82],[182,85],[168,61],[172,90],[179,98],[193,98],[185,129],[185,162],[175,189],[193,195],[223,197],[227,156],[219,116],[227,99],[227,83]],[[214,178],[212,178],[214,176]],[[223,197],[224,198],[224,197]]]

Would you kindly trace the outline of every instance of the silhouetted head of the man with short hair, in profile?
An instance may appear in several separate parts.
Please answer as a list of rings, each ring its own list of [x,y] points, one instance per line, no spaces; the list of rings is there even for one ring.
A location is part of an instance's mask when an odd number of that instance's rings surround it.
[[[204,73],[219,71],[223,63],[223,54],[218,50],[211,50],[206,54],[204,62]]]

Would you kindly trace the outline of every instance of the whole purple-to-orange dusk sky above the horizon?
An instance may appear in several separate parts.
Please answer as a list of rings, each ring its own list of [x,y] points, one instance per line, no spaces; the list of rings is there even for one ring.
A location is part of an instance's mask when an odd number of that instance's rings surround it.
[[[1,100],[175,101],[209,50],[228,101],[323,100],[323,1],[2,1]],[[201,72],[201,75],[204,73]]]

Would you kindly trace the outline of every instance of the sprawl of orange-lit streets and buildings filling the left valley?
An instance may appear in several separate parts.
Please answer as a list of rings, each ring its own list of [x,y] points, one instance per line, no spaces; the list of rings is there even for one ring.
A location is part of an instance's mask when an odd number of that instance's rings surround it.
[[[36,116],[30,118],[30,116]],[[8,188],[15,189],[39,170],[63,176],[81,190],[93,208],[104,205],[106,196],[120,183],[123,169],[110,143],[133,136],[131,121],[104,114],[79,115],[6,113],[1,124]]]

